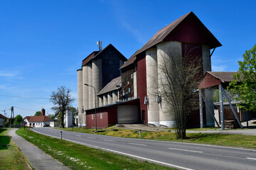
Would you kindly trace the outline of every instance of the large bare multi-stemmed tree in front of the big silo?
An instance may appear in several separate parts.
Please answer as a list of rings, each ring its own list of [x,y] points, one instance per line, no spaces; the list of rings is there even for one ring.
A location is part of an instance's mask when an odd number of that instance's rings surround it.
[[[162,103],[168,106],[170,116],[176,121],[176,138],[186,138],[186,126],[190,114],[198,108],[197,89],[203,77],[202,57],[181,57],[176,52],[164,52],[159,62],[159,90]],[[162,62],[161,62],[162,61]]]

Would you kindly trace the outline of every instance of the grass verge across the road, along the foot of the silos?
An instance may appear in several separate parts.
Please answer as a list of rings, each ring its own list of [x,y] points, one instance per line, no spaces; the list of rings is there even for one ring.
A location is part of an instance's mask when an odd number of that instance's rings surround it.
[[[71,131],[71,128],[57,128],[59,130]],[[132,137],[139,138],[139,130],[116,129],[115,126],[105,129],[104,132],[97,132],[99,135],[110,135],[114,137]],[[74,132],[93,133],[94,130],[85,128],[73,128]],[[193,142],[208,145],[220,145],[226,147],[242,147],[256,149],[256,136],[252,135],[226,135],[226,134],[207,134],[207,133],[189,133],[187,131],[185,140],[176,140],[175,132],[142,132],[142,138],[148,140],[165,140],[174,142]]]

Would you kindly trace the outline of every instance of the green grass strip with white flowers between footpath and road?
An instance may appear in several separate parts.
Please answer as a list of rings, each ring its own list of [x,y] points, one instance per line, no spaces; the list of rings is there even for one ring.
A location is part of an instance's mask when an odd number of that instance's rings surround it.
[[[50,154],[55,159],[63,162],[70,169],[171,169],[170,167],[141,162],[119,154],[40,135],[28,129],[17,130],[16,133],[42,149],[46,154]]]

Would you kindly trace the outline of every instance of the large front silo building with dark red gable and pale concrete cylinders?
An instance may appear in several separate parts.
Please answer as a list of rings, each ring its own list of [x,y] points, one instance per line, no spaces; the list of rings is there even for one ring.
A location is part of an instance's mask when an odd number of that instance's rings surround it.
[[[193,12],[189,12],[159,30],[142,48],[137,50],[120,69],[124,75],[124,77],[122,76],[122,82],[124,82],[122,88],[126,88],[127,77],[134,72],[134,69],[137,73],[137,81],[133,81],[137,84],[137,89],[134,88],[134,91],[137,90],[134,96],[137,95],[135,98],[139,98],[141,122],[146,125],[167,127],[175,125],[174,111],[171,111],[171,107],[164,98],[164,90],[168,88],[164,86],[166,78],[161,69],[163,66],[169,71],[175,69],[174,64],[170,62],[170,55],[176,62],[181,62],[187,52],[190,52],[191,60],[197,57],[200,60],[203,59],[203,64],[200,66],[203,77],[203,74],[211,70],[210,56],[212,54],[210,54],[210,50],[214,51],[215,47],[220,46],[220,42],[197,16]],[[171,75],[171,77],[173,76],[175,75]],[[177,81],[176,79],[172,80]],[[159,103],[156,101],[157,93],[163,97],[161,101],[158,101]],[[205,94],[206,103],[210,105],[210,110],[213,112],[212,92],[206,90]],[[200,125],[199,110],[191,113],[188,125]],[[206,125],[214,125],[213,118],[208,111],[206,111]]]

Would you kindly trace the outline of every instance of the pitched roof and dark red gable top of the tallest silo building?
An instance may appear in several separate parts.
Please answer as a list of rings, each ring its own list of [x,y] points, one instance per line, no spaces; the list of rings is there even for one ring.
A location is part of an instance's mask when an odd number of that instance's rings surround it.
[[[186,18],[190,18],[190,20],[185,21]],[[195,21],[195,22],[193,22],[193,21]],[[129,60],[127,60],[127,62],[125,62],[122,65],[122,67],[120,67],[120,69],[127,67],[129,64],[134,62],[134,60],[136,60],[137,55],[139,55],[140,53],[149,49],[150,47],[154,47],[154,45],[158,44],[159,42],[169,41],[169,40],[165,40],[165,39],[168,38],[168,36],[172,32],[175,32],[174,30],[176,30],[176,28],[180,25],[180,23],[183,23],[183,22],[188,22],[189,24],[195,23],[195,24],[200,25],[201,30],[203,30],[202,33],[206,34],[207,36],[205,36],[205,37],[211,41],[210,42],[211,48],[221,46],[220,42],[214,37],[214,35],[212,33],[210,33],[210,31],[206,28],[206,26],[204,26],[203,23],[198,19],[198,17],[191,11],[189,13],[186,13],[184,16],[181,16],[181,18],[178,18],[176,21],[170,23],[168,26],[159,30],[148,42],[146,42],[146,44],[142,48],[137,50],[137,52],[135,52],[134,55],[132,55],[132,57],[130,57]],[[188,27],[186,26],[186,28],[188,28]],[[183,33],[183,31],[184,31],[184,28],[182,28],[181,30],[178,30],[178,32],[182,32],[182,33]],[[188,35],[192,34],[192,33],[190,33],[190,31],[191,30],[186,31],[186,32],[188,32],[186,34],[188,34]]]

